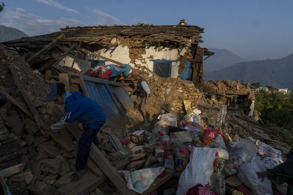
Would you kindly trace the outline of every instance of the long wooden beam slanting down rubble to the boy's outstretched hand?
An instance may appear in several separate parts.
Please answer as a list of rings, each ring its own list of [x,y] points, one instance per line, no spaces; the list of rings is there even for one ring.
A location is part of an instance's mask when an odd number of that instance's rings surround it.
[[[32,102],[30,101],[30,98],[28,98],[27,93],[24,90],[24,87],[22,86],[22,84],[17,76],[15,69],[11,65],[8,66],[8,68],[13,76],[13,79],[15,81],[17,88],[20,90],[20,93],[24,97],[24,100],[27,102],[28,108],[30,108],[30,111],[34,116],[35,121],[37,122],[38,126],[40,127],[43,124],[43,122],[42,122],[42,119],[41,119],[39,113],[37,112],[37,110],[34,107],[34,105],[32,104]],[[42,129],[40,129],[40,130],[41,130],[42,134],[44,134],[44,131]]]

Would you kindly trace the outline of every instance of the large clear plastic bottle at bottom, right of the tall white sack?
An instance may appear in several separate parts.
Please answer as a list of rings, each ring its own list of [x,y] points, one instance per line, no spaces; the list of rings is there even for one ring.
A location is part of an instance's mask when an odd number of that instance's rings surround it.
[[[211,176],[212,191],[217,195],[225,195],[226,185],[225,177],[222,173],[213,173]]]

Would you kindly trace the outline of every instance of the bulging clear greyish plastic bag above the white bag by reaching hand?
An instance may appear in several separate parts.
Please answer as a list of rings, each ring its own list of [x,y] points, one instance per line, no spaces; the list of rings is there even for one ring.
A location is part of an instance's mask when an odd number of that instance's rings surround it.
[[[229,160],[225,162],[224,175],[228,177],[237,174],[239,166],[250,162],[258,151],[259,149],[251,141],[241,139],[229,152]]]

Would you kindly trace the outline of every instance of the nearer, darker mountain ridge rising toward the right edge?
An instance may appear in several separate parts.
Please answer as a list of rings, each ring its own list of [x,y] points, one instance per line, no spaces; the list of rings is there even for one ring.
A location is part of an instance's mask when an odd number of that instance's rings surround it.
[[[205,72],[204,80],[242,80],[244,83],[260,82],[265,86],[292,88],[293,54],[281,59],[236,63],[218,71]]]

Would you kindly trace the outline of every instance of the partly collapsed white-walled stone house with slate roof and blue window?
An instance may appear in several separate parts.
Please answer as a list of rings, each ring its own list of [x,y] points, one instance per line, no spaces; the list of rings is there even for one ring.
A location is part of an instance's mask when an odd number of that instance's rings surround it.
[[[146,67],[160,77],[191,80],[199,89],[202,87],[203,57],[214,54],[198,46],[203,42],[200,34],[204,33],[204,28],[187,25],[184,20],[178,25],[168,26],[138,23],[137,26],[99,25],[66,27],[60,30],[51,34],[6,41],[4,44],[29,58],[31,54],[37,53],[56,37],[64,34],[63,40],[48,48],[40,60],[30,64],[32,68],[40,68],[53,57],[61,55],[64,58],[56,63],[56,66],[73,65],[73,68],[80,71],[117,61],[136,69]],[[112,62],[79,50],[73,64],[78,46],[73,47],[67,55],[64,55],[64,52],[66,53],[73,44],[79,43],[80,48],[111,59]],[[46,68],[52,70],[54,75],[52,66]]]

